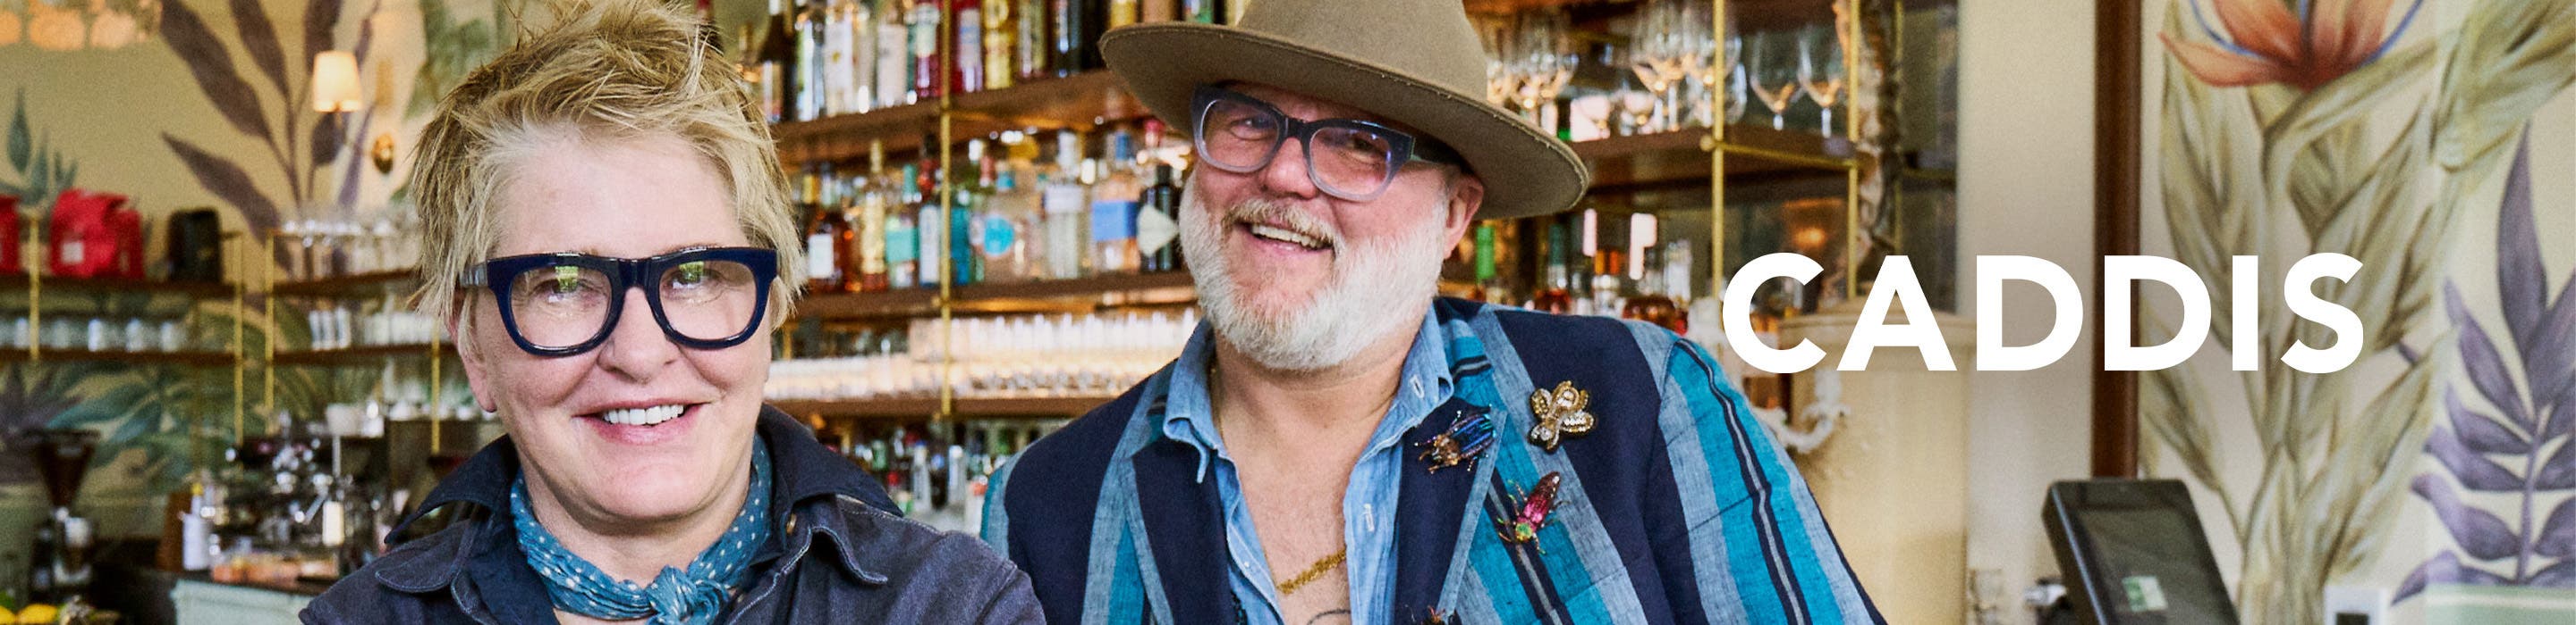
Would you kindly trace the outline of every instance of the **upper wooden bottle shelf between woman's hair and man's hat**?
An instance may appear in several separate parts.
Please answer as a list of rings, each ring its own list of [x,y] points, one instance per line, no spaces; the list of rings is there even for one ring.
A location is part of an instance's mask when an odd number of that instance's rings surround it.
[[[1126,95],[1108,69],[1072,77],[1033,80],[999,90],[958,93],[948,100],[951,134],[963,141],[1010,129],[1090,129],[1097,121],[1126,121],[1151,116],[1136,98]],[[868,141],[884,141],[886,154],[914,152],[922,134],[938,131],[938,103],[909,103],[868,113],[827,116],[817,121],[788,121],[770,126],[778,141],[778,159],[788,167],[804,162],[840,162],[868,157]]]

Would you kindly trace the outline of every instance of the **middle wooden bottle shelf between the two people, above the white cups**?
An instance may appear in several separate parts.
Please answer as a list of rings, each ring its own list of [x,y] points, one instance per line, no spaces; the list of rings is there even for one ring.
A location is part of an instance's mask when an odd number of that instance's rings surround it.
[[[1033,280],[1033,283],[979,283],[961,285],[951,291],[951,309],[963,314],[999,314],[999,311],[1054,311],[1064,303],[1077,306],[1154,306],[1154,303],[1190,303],[1198,301],[1198,291],[1190,283],[1190,273],[1128,273],[1128,275],[1095,275],[1077,280]],[[799,316],[819,319],[863,319],[863,316],[930,316],[938,314],[938,291],[933,288],[904,288],[881,293],[817,293],[796,303]]]

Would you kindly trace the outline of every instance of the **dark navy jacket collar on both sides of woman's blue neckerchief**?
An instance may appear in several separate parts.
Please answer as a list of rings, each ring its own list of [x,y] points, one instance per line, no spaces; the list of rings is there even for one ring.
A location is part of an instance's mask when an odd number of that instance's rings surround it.
[[[770,445],[770,489],[775,489],[775,502],[783,502],[786,514],[778,514],[778,540],[770,545],[768,556],[778,553],[804,553],[814,543],[829,543],[835,556],[827,561],[840,563],[850,576],[871,584],[884,584],[884,574],[860,563],[860,538],[842,535],[855,522],[848,514],[896,514],[894,499],[886,496],[884,486],[848,458],[840,458],[832,448],[814,440],[814,430],[778,412],[773,406],[760,409],[757,437]],[[376,579],[399,592],[433,592],[446,586],[469,563],[526,568],[526,558],[518,556],[518,535],[510,530],[507,520],[497,520],[510,509],[510,484],[518,478],[518,445],[510,437],[497,437],[484,445],[464,466],[459,466],[448,478],[430,489],[420,509],[394,525],[389,543],[402,543],[404,530],[422,517],[448,509],[446,514],[464,527],[433,532],[425,538],[422,550],[412,553],[386,553],[384,566]],[[842,502],[855,502],[858,507],[845,507]],[[814,535],[829,535],[832,540],[814,540]],[[778,568],[773,568],[778,571]]]

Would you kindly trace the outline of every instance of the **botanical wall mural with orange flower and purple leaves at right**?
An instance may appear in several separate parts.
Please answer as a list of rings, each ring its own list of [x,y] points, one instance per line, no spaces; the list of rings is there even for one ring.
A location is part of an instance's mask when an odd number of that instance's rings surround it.
[[[2159,41],[2143,57],[2143,252],[2205,275],[2213,319],[2195,360],[2141,376],[2141,455],[2195,486],[2246,622],[2318,622],[2329,586],[2398,610],[2458,584],[2576,597],[2576,303],[2548,280],[2576,265],[2576,195],[2530,183],[2576,152],[2576,3],[2143,10]],[[2553,162],[2532,165],[2527,141]],[[2336,340],[2280,301],[2290,260],[2313,252],[2362,260],[2349,283],[2318,283],[2365,327],[2362,360],[2339,373],[2275,360]],[[2259,370],[2226,355],[2239,255],[2262,257],[2239,278],[2264,283]],[[2141,342],[2159,345],[2179,303],[2146,296]]]

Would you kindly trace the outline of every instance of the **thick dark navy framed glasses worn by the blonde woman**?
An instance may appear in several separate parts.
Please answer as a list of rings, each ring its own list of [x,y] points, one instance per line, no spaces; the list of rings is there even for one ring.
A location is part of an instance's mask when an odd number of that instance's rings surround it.
[[[580,355],[608,340],[626,288],[644,288],[670,342],[724,350],[760,329],[778,252],[690,247],[657,257],[518,255],[466,270],[464,285],[492,288],[500,324],[531,355]]]

